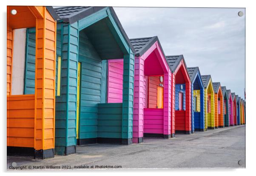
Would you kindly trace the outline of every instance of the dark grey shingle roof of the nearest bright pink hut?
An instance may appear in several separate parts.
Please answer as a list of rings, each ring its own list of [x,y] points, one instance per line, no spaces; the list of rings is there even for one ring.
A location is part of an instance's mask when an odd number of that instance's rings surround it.
[[[131,38],[130,41],[132,46],[134,47],[136,56],[143,55],[156,41],[158,41],[162,53],[165,55],[157,36],[145,38]]]

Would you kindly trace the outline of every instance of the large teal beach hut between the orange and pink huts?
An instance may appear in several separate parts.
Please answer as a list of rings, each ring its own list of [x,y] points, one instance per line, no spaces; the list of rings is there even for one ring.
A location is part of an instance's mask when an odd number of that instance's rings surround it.
[[[112,7],[54,9],[57,20],[55,153],[88,143],[132,143],[134,53]],[[123,101],[107,103],[107,60],[124,59]]]

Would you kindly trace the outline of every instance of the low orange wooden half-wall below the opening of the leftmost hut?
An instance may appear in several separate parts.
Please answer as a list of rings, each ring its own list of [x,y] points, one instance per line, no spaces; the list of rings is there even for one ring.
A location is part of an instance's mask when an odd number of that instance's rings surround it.
[[[34,95],[7,97],[7,146],[34,146]]]

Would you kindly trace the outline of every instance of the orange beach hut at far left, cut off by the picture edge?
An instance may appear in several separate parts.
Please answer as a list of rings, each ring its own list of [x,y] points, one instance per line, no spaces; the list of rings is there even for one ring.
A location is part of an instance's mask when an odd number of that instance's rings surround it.
[[[7,6],[7,154],[54,157],[55,45],[52,7]],[[26,29],[35,27],[34,92],[24,94]]]

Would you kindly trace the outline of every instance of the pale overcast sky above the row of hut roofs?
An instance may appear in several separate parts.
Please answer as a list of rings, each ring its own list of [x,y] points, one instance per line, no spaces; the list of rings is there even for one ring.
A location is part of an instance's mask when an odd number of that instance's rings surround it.
[[[114,10],[129,38],[158,36],[165,55],[184,55],[231,92],[244,98],[244,8],[126,8]]]

